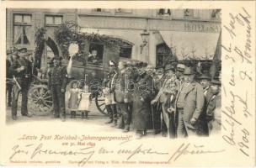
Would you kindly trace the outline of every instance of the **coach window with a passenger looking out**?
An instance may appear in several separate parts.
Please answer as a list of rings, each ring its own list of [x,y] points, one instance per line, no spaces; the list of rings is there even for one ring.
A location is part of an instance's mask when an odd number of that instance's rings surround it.
[[[92,64],[101,64],[103,61],[104,45],[91,43],[89,46],[88,62]]]

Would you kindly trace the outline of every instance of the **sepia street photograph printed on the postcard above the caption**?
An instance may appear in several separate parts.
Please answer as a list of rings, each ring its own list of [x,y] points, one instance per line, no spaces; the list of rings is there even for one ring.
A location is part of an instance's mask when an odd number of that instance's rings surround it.
[[[6,35],[7,123],[221,130],[221,9],[8,8]]]

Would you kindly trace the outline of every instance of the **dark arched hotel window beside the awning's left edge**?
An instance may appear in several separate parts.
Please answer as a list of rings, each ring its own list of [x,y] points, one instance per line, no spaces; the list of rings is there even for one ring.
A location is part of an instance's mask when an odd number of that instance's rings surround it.
[[[157,45],[157,67],[163,67],[169,60],[171,50],[165,43]]]

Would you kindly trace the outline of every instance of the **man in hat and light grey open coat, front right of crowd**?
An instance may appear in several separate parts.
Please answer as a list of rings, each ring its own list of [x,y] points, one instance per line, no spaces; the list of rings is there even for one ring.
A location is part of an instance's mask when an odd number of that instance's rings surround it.
[[[184,83],[176,97],[175,112],[178,121],[177,137],[184,138],[189,134],[188,126],[195,126],[204,107],[204,89],[195,81],[195,70],[192,67],[184,69]],[[195,130],[196,131],[196,130]]]

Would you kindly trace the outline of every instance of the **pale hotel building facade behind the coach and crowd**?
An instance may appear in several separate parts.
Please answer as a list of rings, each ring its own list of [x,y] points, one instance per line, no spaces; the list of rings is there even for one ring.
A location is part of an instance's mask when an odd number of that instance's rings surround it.
[[[7,48],[15,45],[35,50],[36,29],[54,29],[67,21],[76,22],[81,31],[106,34],[125,41],[118,55],[163,66],[166,55],[211,59],[221,32],[219,9],[18,9],[7,10]],[[104,57],[104,47],[90,44]],[[45,47],[42,59],[52,56]],[[44,60],[42,63],[45,62]],[[45,64],[45,63],[43,63]]]

